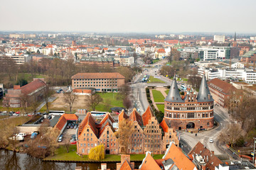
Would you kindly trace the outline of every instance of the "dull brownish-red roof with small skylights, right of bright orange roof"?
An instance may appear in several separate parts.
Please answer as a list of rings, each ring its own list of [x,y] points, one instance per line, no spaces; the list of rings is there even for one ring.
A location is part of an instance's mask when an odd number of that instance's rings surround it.
[[[204,161],[206,162],[206,169],[214,170],[215,166],[223,164],[223,162],[221,162],[220,159],[218,159],[218,157],[216,157],[212,152],[210,152],[210,150],[207,149],[201,142],[198,142],[196,146],[193,147],[193,149],[191,149],[191,152],[189,152],[188,154],[199,154],[203,158],[208,157],[208,161],[207,159],[204,159]]]

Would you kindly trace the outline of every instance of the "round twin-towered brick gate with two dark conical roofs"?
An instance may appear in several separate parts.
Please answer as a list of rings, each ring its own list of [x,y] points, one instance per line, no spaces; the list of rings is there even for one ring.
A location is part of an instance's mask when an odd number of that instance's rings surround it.
[[[213,128],[213,97],[203,76],[198,95],[188,91],[184,98],[178,92],[176,77],[164,99],[164,120],[175,130]]]

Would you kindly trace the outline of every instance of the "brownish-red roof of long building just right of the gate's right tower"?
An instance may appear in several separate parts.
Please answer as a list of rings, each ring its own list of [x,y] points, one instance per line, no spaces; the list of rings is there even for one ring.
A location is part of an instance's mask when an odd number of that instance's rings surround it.
[[[226,81],[222,81],[222,80],[217,79],[217,78],[211,79],[210,81],[208,81],[207,84],[208,84],[208,86],[210,86],[211,88],[217,89],[218,91],[221,91],[221,92],[223,92],[224,94],[229,94],[230,91],[235,91],[235,90],[236,90],[235,87],[234,87],[232,84],[229,84],[229,83],[227,83]],[[220,88],[220,89],[218,89],[218,88],[215,87],[214,85],[217,86],[217,87]]]

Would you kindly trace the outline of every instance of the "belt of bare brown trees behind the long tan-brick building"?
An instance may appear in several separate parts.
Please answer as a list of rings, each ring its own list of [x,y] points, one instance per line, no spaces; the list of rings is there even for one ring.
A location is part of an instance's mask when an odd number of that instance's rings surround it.
[[[139,67],[99,67],[97,64],[77,64],[73,60],[58,58],[53,60],[44,58],[40,62],[31,61],[17,65],[10,57],[0,57],[0,63],[0,74],[8,77],[8,81],[4,84],[7,88],[25,79],[23,74],[44,75],[47,83],[52,86],[67,86],[71,84],[71,77],[79,72],[119,72],[125,77],[126,83],[132,81],[134,74],[142,72]]]

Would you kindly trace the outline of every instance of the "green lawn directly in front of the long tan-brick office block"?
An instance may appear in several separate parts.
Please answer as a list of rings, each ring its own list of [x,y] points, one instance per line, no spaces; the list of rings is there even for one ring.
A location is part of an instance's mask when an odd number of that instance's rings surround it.
[[[118,93],[98,93],[103,98],[103,102],[96,106],[96,111],[106,111],[105,103],[107,101],[110,102],[112,107],[122,107],[124,108],[124,104],[122,99],[117,99]]]

